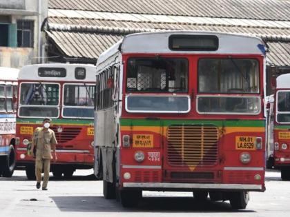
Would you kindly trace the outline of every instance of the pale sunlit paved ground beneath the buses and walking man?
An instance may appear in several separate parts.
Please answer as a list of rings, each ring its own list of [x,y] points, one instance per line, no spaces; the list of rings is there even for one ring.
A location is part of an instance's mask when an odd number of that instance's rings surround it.
[[[139,207],[123,208],[115,200],[105,200],[102,183],[93,170],[77,170],[71,180],[50,178],[48,191],[35,188],[24,171],[12,178],[0,177],[0,216],[290,216],[290,181],[280,180],[280,173],[267,172],[264,193],[251,192],[247,209],[233,211],[229,203],[197,203],[188,192],[143,192]]]

